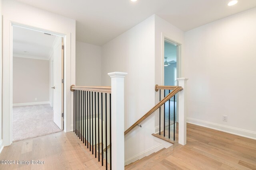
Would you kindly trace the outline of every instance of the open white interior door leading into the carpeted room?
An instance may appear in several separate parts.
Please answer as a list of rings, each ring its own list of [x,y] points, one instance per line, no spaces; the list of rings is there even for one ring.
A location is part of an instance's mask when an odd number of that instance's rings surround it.
[[[63,130],[62,41],[54,48],[54,123]]]

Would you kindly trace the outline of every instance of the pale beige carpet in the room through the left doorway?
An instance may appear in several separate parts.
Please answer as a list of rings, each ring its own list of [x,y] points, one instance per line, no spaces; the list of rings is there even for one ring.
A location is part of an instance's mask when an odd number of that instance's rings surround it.
[[[50,104],[12,107],[13,141],[30,139],[61,131],[53,122]]]

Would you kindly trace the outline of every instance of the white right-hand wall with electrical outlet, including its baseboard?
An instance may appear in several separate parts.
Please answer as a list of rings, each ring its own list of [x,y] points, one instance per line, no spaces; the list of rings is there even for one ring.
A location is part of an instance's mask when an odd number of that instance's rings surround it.
[[[256,8],[192,29],[185,42],[188,121],[256,139]]]

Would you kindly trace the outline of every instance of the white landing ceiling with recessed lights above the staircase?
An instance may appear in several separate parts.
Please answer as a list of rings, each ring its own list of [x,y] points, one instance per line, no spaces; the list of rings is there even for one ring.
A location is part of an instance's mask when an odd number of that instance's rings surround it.
[[[17,0],[76,20],[76,40],[103,45],[157,14],[183,31],[256,7],[256,0]]]

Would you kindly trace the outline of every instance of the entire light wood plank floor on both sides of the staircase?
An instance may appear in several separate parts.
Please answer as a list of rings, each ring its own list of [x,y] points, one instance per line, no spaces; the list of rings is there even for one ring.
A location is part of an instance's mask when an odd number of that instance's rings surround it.
[[[187,145],[175,143],[125,167],[126,170],[256,170],[256,140],[187,124]],[[0,170],[104,170],[98,159],[73,132],[54,133],[14,142],[4,147],[0,160],[24,160],[30,164],[0,164]],[[44,164],[31,164],[31,160]]]

